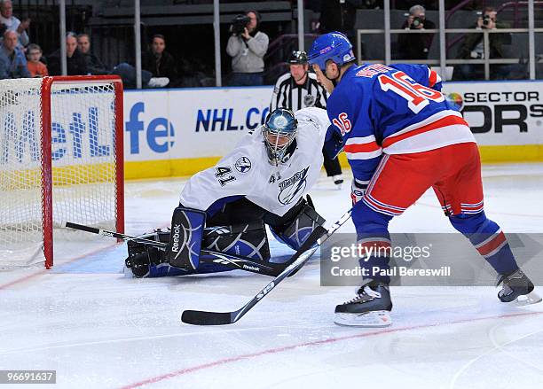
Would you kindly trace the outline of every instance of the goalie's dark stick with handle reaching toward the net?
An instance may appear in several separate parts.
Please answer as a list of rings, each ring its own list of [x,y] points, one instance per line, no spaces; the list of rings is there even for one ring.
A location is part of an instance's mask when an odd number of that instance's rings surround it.
[[[145,237],[132,237],[130,235],[121,234],[119,232],[97,229],[74,222],[66,222],[65,224],[63,224],[63,226],[69,229],[91,232],[91,234],[97,234],[103,237],[116,237],[117,239],[122,239],[124,241],[130,240],[141,243],[143,245],[151,245],[158,248],[159,250],[165,250],[166,245],[168,245],[167,243],[157,242],[152,239],[146,239]],[[216,231],[214,232],[218,233]],[[245,270],[250,273],[263,274],[264,276],[277,276],[288,266],[288,263],[254,261],[251,258],[243,257],[241,255],[219,253],[214,250],[207,249],[202,249],[201,254],[202,263],[223,265],[227,268],[232,268],[234,270]]]

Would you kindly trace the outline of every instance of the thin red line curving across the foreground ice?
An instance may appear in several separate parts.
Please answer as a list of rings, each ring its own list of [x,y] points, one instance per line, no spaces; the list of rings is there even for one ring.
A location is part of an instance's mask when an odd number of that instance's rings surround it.
[[[175,371],[172,371],[172,372],[167,373],[167,374],[162,374],[161,376],[147,378],[147,379],[145,379],[143,381],[139,381],[139,382],[137,382],[135,384],[122,386],[121,389],[133,389],[133,388],[137,388],[137,387],[144,386],[144,385],[154,384],[156,382],[162,381],[163,379],[183,376],[184,374],[192,373],[193,371],[209,369],[209,368],[213,368],[215,366],[224,365],[226,363],[232,363],[232,362],[239,362],[239,361],[242,361],[242,360],[248,360],[248,359],[256,358],[258,356],[262,356],[262,355],[266,355],[266,354],[278,354],[278,353],[282,353],[284,351],[293,350],[293,349],[298,348],[298,347],[320,346],[320,345],[325,345],[327,343],[335,343],[335,342],[339,342],[339,341],[342,341],[342,340],[349,340],[349,339],[353,339],[353,338],[368,338],[368,337],[372,337],[372,336],[380,335],[380,334],[387,334],[387,333],[401,332],[401,331],[419,330],[419,329],[422,329],[422,328],[437,327],[437,326],[446,325],[446,324],[472,323],[472,322],[478,322],[478,321],[489,320],[489,319],[507,319],[507,318],[510,318],[510,317],[529,316],[529,315],[543,315],[543,312],[523,312],[523,313],[518,313],[518,314],[476,317],[476,318],[473,318],[473,319],[462,319],[462,320],[457,320],[457,321],[448,322],[448,323],[433,323],[433,324],[413,325],[411,327],[391,328],[391,329],[382,330],[382,331],[364,332],[364,333],[358,333],[356,335],[348,335],[348,336],[338,337],[338,338],[327,338],[327,339],[323,339],[323,340],[315,340],[315,341],[312,341],[312,342],[300,343],[300,344],[292,345],[292,346],[283,346],[283,347],[278,347],[278,348],[271,348],[269,350],[259,351],[257,353],[242,354],[242,355],[238,355],[238,356],[232,356],[231,358],[224,358],[224,359],[221,359],[221,360],[218,360],[218,361],[215,361],[215,362],[204,363],[204,364],[201,364],[201,365],[193,366],[192,368],[186,368],[186,369],[182,369],[182,370],[175,370]]]

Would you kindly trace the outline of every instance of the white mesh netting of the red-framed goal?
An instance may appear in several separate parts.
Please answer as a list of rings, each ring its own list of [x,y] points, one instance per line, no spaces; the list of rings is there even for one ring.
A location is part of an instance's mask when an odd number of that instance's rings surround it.
[[[39,79],[0,81],[0,268],[43,261],[42,113]],[[52,210],[55,245],[115,229],[113,82],[53,82]]]

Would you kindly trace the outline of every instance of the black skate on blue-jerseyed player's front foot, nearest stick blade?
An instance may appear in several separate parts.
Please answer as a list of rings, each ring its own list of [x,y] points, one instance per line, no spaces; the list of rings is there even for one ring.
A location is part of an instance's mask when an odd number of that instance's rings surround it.
[[[389,285],[368,279],[357,294],[335,307],[334,323],[354,327],[387,327],[392,323]]]

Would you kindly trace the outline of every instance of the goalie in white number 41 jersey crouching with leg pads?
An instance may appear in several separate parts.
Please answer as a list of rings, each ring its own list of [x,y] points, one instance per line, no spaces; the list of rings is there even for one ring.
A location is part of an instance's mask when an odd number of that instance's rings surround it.
[[[127,267],[136,276],[181,276],[231,270],[238,256],[259,268],[271,258],[264,224],[298,250],[325,222],[303,196],[319,178],[329,126],[320,108],[273,111],[215,167],[186,183],[171,234],[154,233],[169,242],[166,253],[130,243]]]

